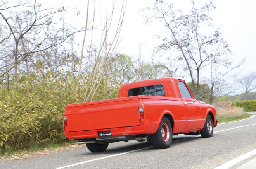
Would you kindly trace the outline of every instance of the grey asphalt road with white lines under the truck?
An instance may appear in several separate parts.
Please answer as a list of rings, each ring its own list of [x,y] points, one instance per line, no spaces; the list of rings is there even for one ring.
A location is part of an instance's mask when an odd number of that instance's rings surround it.
[[[253,113],[256,115],[256,113]],[[150,142],[117,142],[105,152],[92,153],[86,148],[0,163],[1,169],[66,167],[74,168],[174,168],[214,169],[230,160],[256,150],[256,116],[242,121],[219,124],[211,138],[173,136],[168,149],[154,149]],[[254,159],[256,154],[230,169]]]

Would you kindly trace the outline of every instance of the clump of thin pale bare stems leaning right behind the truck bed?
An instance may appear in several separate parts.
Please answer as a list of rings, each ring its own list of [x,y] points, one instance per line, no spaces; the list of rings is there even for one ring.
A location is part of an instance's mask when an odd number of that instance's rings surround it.
[[[93,97],[95,96],[97,89],[99,88],[102,79],[105,75],[105,69],[107,68],[109,60],[112,58],[112,56],[116,53],[118,44],[119,44],[119,38],[120,38],[120,32],[121,27],[123,25],[123,19],[125,15],[125,4],[122,3],[121,11],[119,13],[119,19],[117,21],[117,24],[115,28],[113,27],[112,20],[114,17],[114,10],[115,5],[113,4],[112,12],[109,15],[109,17],[106,16],[105,24],[102,29],[102,38],[100,40],[99,49],[90,50],[91,52],[94,52],[94,64],[92,66],[92,71],[89,73],[88,76],[84,77],[86,78],[86,91],[83,101],[92,101]],[[113,36],[109,36],[109,32],[111,30],[114,30]],[[90,49],[92,48],[92,44],[90,46]],[[89,53],[89,56],[91,53]],[[90,59],[90,58],[89,58]],[[86,66],[87,67],[87,66]],[[86,71],[86,70],[85,70]],[[84,80],[83,80],[84,81]]]

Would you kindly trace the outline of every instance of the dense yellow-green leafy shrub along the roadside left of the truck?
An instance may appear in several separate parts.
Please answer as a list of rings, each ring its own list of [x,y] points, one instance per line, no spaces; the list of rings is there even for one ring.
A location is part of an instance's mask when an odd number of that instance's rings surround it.
[[[117,97],[118,90],[102,84],[93,100]],[[0,85],[0,152],[29,149],[45,143],[63,143],[62,116],[66,104],[81,102],[85,84],[76,92],[76,81],[50,74],[19,77],[18,84]]]

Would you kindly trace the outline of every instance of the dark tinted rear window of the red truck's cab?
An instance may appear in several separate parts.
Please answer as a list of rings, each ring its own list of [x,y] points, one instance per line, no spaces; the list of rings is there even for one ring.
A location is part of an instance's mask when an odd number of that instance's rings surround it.
[[[128,97],[129,96],[138,96],[138,95],[165,96],[164,86],[161,84],[149,85],[149,86],[131,88],[128,90]]]

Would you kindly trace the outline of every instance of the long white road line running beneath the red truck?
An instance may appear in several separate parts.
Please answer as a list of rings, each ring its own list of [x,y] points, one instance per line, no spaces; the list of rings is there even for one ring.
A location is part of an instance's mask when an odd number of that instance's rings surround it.
[[[246,126],[252,126],[252,125],[256,125],[256,123],[251,124],[251,125],[246,125]],[[246,126],[240,126],[240,127],[235,127],[235,128],[229,128],[229,129],[226,129],[226,130],[214,131],[213,133],[218,133],[218,132],[227,131],[227,130],[233,130],[233,129],[236,129],[236,128],[241,128],[241,127],[246,127]],[[173,141],[173,143],[174,143],[174,142],[180,142],[180,141],[183,141],[183,140],[188,140],[188,139],[190,139],[190,138],[195,138],[195,137],[200,137],[200,135],[196,135],[196,136],[189,137],[189,138],[184,138],[184,139],[181,139],[181,140],[176,140],[176,141]],[[77,165],[80,165],[80,164],[85,164],[85,163],[87,163],[87,162],[102,160],[102,159],[106,159],[106,158],[109,158],[109,157],[114,157],[114,156],[123,155],[123,154],[131,153],[131,152],[135,152],[135,151],[139,151],[139,150],[149,149],[149,148],[152,148],[152,147],[153,147],[153,146],[144,147],[144,148],[142,148],[142,149],[131,150],[131,151],[128,151],[128,152],[123,152],[123,153],[119,153],[119,154],[109,155],[109,156],[101,157],[101,158],[98,158],[98,159],[92,159],[92,160],[88,160],[88,161],[78,162],[78,163],[75,163],[75,164],[70,164],[70,165],[68,165],[68,166],[63,166],[63,167],[59,167],[59,168],[56,168],[56,169],[62,169],[62,168],[77,166]],[[248,158],[248,157],[247,157],[247,158]]]

